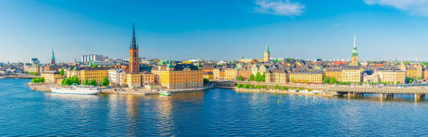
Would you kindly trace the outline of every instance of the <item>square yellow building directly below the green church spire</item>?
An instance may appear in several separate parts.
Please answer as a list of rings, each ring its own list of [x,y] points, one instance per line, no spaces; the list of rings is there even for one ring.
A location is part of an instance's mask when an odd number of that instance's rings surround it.
[[[361,72],[359,66],[344,66],[341,82],[361,82]]]

